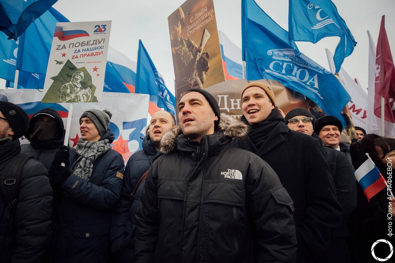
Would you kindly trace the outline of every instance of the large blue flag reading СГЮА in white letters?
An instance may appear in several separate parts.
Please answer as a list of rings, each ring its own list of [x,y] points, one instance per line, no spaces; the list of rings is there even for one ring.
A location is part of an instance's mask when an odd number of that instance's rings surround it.
[[[295,49],[288,32],[254,0],[242,0],[242,49],[246,79],[272,79],[314,101],[345,126],[341,111],[350,96],[328,70]]]

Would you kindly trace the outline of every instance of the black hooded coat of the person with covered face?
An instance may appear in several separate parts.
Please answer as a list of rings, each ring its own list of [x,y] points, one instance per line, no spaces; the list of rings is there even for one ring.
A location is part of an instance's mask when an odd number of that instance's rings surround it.
[[[38,141],[30,138],[30,133],[34,128],[34,122],[36,121],[36,118],[34,118],[34,116],[39,113],[47,113],[55,117],[55,121],[59,127],[59,133],[55,139],[51,141]],[[29,140],[30,144],[21,145],[21,152],[33,156],[34,159],[41,162],[45,166],[45,168],[49,169],[51,167],[53,159],[55,158],[55,153],[59,150],[60,145],[63,145],[64,143],[64,132],[65,131],[63,120],[60,115],[54,109],[42,109],[38,111],[35,115],[33,115],[30,119],[29,129],[24,135],[26,139]]]

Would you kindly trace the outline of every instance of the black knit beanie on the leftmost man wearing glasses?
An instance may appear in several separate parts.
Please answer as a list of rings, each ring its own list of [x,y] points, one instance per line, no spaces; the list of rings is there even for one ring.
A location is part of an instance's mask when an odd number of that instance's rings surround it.
[[[8,101],[0,101],[0,111],[14,131],[13,140],[21,138],[29,127],[29,116],[21,107]]]

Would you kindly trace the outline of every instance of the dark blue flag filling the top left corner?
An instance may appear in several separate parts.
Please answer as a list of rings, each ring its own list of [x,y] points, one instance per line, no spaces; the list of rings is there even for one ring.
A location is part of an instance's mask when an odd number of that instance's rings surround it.
[[[58,0],[0,1],[0,30],[17,40],[28,26]]]

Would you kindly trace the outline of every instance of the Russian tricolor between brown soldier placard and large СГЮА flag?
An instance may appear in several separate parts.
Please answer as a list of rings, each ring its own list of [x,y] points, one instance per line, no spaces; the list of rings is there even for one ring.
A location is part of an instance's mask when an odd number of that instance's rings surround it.
[[[241,59],[241,49],[220,30],[218,30],[222,64],[226,80],[243,79],[243,61]]]

